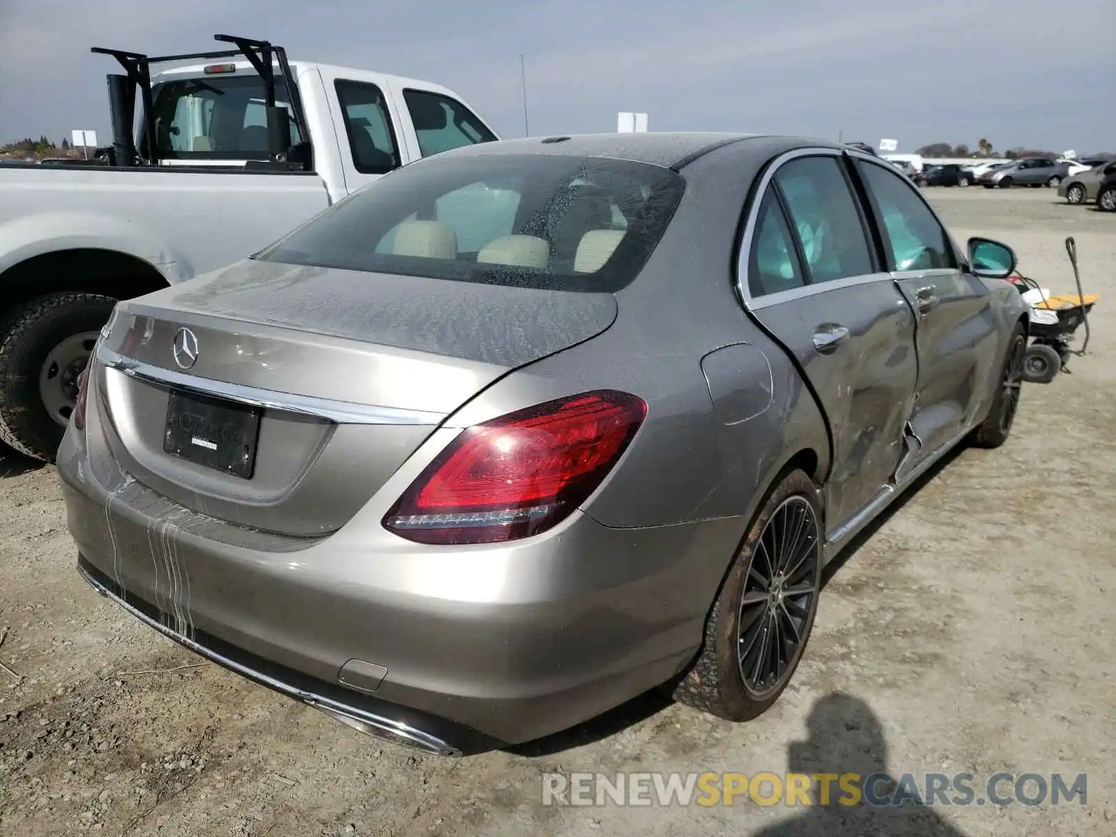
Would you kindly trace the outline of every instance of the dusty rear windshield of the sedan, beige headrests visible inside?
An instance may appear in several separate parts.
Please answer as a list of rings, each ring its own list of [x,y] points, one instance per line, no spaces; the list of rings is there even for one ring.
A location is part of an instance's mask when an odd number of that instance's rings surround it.
[[[432,157],[381,177],[254,258],[614,291],[643,268],[683,189],[668,169],[620,160]]]

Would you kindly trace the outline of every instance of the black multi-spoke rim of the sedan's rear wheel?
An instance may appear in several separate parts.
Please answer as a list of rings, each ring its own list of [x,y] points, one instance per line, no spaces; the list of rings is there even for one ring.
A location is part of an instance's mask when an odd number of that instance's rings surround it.
[[[806,645],[818,595],[818,535],[814,507],[795,496],[776,507],[752,548],[737,661],[744,689],[757,700],[783,686]]]

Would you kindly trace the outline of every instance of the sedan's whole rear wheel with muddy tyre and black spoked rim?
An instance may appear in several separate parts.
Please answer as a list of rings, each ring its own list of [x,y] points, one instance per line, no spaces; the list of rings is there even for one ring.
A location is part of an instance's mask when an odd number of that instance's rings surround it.
[[[768,494],[705,622],[702,648],[673,696],[748,721],[790,682],[821,590],[821,512],[810,478],[788,473]]]

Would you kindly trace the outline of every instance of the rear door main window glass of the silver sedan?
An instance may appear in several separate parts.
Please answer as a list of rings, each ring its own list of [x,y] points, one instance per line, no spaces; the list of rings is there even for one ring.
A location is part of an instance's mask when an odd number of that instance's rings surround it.
[[[840,162],[799,157],[776,172],[811,283],[875,272],[872,250]]]

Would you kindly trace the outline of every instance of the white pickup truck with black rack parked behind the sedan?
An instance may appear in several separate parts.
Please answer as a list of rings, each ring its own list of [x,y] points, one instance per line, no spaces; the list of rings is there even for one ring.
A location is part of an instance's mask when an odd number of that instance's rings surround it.
[[[54,459],[117,300],[244,258],[419,157],[497,138],[445,87],[217,39],[235,49],[95,49],[125,69],[108,77],[108,164],[0,167],[0,442],[25,454]],[[204,64],[151,75],[184,60]]]

